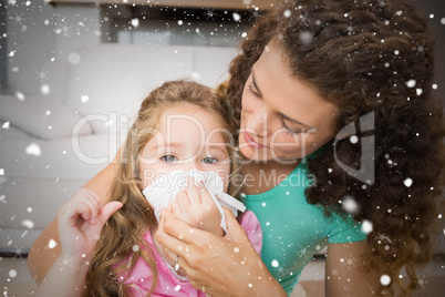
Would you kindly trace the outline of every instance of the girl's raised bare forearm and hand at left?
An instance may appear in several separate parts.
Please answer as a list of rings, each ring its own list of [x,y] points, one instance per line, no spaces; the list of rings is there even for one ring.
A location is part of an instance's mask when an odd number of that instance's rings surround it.
[[[87,190],[79,191],[61,207],[58,214],[61,254],[41,281],[38,297],[83,295],[85,276],[102,227],[121,207],[120,202],[102,206],[99,197]]]

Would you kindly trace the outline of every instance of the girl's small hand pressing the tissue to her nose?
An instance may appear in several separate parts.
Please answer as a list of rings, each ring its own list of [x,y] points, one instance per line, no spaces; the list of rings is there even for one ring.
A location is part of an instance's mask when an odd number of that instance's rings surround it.
[[[224,235],[218,207],[208,190],[195,180],[188,180],[188,186],[177,194],[170,207],[173,215],[188,225],[218,236]]]

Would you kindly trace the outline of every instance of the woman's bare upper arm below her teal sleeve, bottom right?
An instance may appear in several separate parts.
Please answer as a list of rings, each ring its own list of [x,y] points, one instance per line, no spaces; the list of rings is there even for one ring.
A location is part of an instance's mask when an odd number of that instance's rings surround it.
[[[372,270],[362,257],[369,250],[366,240],[329,244],[325,265],[327,296],[379,296],[377,275],[363,270],[363,267]]]

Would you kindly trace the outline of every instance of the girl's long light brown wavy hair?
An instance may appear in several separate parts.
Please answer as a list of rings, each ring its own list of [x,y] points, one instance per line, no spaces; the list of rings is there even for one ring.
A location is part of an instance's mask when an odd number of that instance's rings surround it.
[[[102,229],[86,275],[87,296],[131,296],[127,285],[122,285],[130,277],[138,257],[143,258],[154,274],[154,281],[148,295],[157,283],[156,263],[153,247],[144,240],[146,232],[157,226],[153,209],[143,196],[139,184],[139,152],[153,136],[156,123],[163,112],[175,106],[198,106],[218,121],[230,157],[230,177],[228,193],[235,195],[239,187],[231,183],[237,174],[238,164],[232,145],[232,127],[228,124],[226,101],[201,84],[190,81],[172,81],[152,91],[142,102],[141,109],[118,158],[118,171],[111,186],[110,201],[120,201],[123,207],[114,213]],[[122,278],[117,280],[117,277]]]

